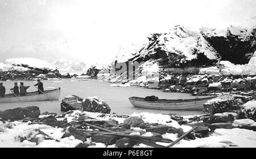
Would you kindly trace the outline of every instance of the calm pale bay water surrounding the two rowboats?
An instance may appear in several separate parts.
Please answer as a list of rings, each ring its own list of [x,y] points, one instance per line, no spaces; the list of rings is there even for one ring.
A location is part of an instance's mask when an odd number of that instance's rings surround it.
[[[2,81],[6,87],[6,93],[11,93],[9,90],[13,88],[14,81]],[[18,83],[21,81],[17,81]],[[154,110],[154,109],[138,109],[134,108],[128,100],[131,96],[146,97],[158,96],[159,98],[166,99],[189,99],[195,98],[191,94],[184,93],[168,93],[156,89],[146,89],[141,87],[110,87],[111,83],[98,81],[98,80],[77,80],[77,79],[63,79],[63,80],[44,80],[44,89],[52,89],[54,87],[61,87],[60,100],[68,95],[76,95],[81,98],[97,96],[112,109],[110,113],[117,114],[132,114],[134,112],[150,112],[150,113],[174,113],[177,115],[195,115],[203,114],[203,111],[175,111],[175,110]],[[28,92],[37,91],[33,86],[36,81],[23,81],[24,85],[30,85]],[[56,112],[62,114],[60,111],[60,101],[40,101],[40,102],[25,102],[24,105],[18,103],[0,103],[0,110],[13,109],[16,107],[25,106],[39,106],[41,113],[44,111]]]

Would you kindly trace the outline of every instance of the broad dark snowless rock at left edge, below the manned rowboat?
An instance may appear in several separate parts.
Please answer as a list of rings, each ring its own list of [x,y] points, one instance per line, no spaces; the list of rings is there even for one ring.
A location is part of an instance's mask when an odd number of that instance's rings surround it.
[[[38,118],[40,110],[38,106],[27,106],[25,108],[14,108],[2,111],[0,117],[6,120],[17,121],[24,118]]]

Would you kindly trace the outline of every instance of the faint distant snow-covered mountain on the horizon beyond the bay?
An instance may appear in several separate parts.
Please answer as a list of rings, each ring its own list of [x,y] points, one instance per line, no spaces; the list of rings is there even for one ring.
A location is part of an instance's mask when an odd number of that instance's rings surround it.
[[[59,71],[86,71],[88,66],[81,61],[58,59],[51,62]]]

